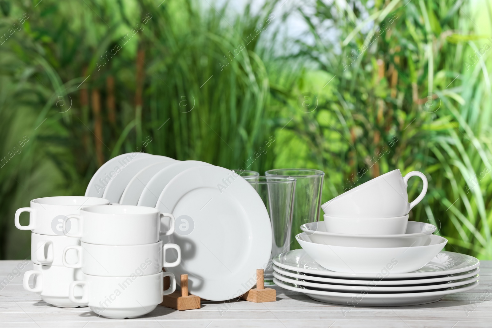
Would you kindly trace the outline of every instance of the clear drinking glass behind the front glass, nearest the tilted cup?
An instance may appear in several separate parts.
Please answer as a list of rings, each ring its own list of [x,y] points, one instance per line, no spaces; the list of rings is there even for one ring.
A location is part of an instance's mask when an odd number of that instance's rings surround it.
[[[267,177],[296,179],[296,201],[292,217],[291,249],[301,248],[296,235],[302,233],[301,225],[319,221],[321,192],[325,173],[314,169],[274,169],[265,172]]]

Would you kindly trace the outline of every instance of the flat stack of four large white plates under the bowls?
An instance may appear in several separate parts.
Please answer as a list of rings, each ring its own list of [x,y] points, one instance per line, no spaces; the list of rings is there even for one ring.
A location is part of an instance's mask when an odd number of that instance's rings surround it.
[[[413,272],[346,273],[323,268],[297,249],[278,254],[273,263],[278,286],[312,299],[350,306],[400,306],[431,303],[476,287],[480,261],[442,251]]]

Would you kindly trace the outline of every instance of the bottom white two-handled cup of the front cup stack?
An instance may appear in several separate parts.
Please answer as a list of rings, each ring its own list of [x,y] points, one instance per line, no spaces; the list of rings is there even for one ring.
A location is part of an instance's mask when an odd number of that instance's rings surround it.
[[[164,289],[163,277],[171,285]],[[76,298],[74,289],[82,286],[82,298]],[[171,272],[130,277],[100,277],[83,274],[82,281],[74,281],[68,289],[74,303],[88,304],[92,312],[111,319],[136,318],[152,312],[162,302],[163,295],[176,290],[176,279]]]

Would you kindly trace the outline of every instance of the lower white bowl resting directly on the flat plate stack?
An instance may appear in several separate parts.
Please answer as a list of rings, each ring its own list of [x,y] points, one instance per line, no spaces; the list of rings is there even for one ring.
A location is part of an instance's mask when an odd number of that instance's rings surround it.
[[[323,268],[337,272],[381,273],[390,276],[418,270],[431,261],[448,242],[431,235],[428,244],[409,247],[346,247],[317,244],[306,233],[296,236],[301,247]],[[388,275],[389,272],[389,275]]]

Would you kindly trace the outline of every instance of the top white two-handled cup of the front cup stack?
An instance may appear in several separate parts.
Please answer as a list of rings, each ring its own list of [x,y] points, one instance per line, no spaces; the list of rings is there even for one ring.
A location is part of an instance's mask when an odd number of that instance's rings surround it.
[[[170,218],[169,230],[161,231],[161,220],[165,217]],[[99,245],[152,244],[159,241],[159,233],[171,235],[175,221],[173,214],[135,205],[92,206],[68,218],[78,221],[78,231],[67,236]]]

